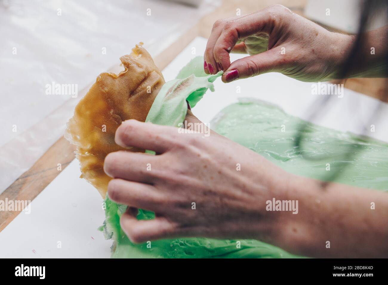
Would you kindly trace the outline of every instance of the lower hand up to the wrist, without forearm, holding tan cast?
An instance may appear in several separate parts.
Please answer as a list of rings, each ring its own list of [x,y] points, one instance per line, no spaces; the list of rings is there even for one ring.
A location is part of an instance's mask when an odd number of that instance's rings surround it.
[[[200,122],[191,111],[186,120]],[[120,151],[105,159],[104,170],[114,178],[109,198],[130,206],[120,223],[132,242],[172,237],[271,240],[279,215],[268,214],[265,203],[284,196],[290,175],[262,156],[216,133],[184,134],[135,120],[121,124],[115,140],[157,153]],[[154,211],[156,218],[137,220],[137,208]]]

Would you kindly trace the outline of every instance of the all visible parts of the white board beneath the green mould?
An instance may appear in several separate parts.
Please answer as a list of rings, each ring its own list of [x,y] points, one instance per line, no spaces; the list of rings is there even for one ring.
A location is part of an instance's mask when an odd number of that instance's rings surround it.
[[[166,81],[177,76],[182,64],[203,55],[206,41],[205,38],[195,38],[163,69]],[[195,54],[192,54],[193,48]],[[243,56],[231,54],[232,60]],[[254,97],[279,105],[289,114],[303,118],[310,105],[322,98],[322,95],[312,95],[312,84],[315,83],[300,82],[279,73],[267,73],[228,84],[218,78],[214,83],[215,92],[206,92],[192,111],[208,123],[223,107],[238,102],[238,98]],[[333,100],[334,106],[326,113],[322,112],[315,123],[353,133],[360,133],[360,124],[367,121],[371,110],[379,104],[374,98],[347,89],[343,98]],[[371,134],[388,142],[385,123],[388,104],[381,104],[381,116],[385,118],[374,121],[376,132]],[[110,256],[112,241],[105,241],[102,233],[96,230],[104,221],[102,198],[92,185],[79,176],[78,161],[74,160],[32,201],[31,214],[19,214],[0,232],[0,257]],[[61,250],[56,249],[58,240],[63,241]]]

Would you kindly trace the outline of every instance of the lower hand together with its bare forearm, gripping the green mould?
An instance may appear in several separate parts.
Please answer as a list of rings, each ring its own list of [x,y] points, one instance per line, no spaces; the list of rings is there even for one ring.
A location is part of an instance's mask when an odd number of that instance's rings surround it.
[[[186,120],[200,123],[191,111]],[[105,159],[104,170],[114,178],[108,195],[129,206],[120,224],[132,242],[254,238],[302,256],[387,256],[387,193],[337,183],[322,189],[322,182],[286,173],[216,133],[203,135],[135,120],[117,129],[119,145],[157,153],[120,151]],[[298,201],[298,214],[267,211],[273,198]],[[379,207],[371,210],[370,201]],[[137,220],[137,208],[156,218]]]

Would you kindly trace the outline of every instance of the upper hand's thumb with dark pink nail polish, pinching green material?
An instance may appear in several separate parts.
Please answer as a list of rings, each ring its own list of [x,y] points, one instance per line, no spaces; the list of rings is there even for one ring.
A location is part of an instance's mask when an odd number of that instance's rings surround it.
[[[285,54],[281,54],[281,47],[276,47],[260,54],[237,59],[222,74],[222,81],[228,83],[267,72],[279,72],[286,62],[285,57]]]

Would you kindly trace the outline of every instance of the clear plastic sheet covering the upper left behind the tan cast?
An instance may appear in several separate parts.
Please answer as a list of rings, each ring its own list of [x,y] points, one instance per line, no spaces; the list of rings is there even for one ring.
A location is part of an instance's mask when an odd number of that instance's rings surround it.
[[[63,135],[96,74],[139,41],[159,54],[220,5],[200,3],[0,0],[0,193]]]

